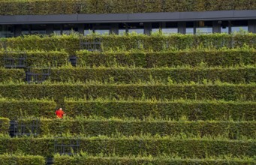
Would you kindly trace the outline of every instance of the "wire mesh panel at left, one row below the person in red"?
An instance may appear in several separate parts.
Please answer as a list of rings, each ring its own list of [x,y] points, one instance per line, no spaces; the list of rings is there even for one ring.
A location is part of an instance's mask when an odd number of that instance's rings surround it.
[[[40,134],[40,119],[19,118],[11,121],[12,136],[38,136]]]

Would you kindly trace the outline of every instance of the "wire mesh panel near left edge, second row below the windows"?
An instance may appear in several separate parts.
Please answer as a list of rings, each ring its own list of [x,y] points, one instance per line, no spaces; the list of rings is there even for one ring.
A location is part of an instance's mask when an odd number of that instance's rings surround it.
[[[6,51],[4,55],[4,67],[5,68],[26,68],[26,58],[27,58],[26,52]]]

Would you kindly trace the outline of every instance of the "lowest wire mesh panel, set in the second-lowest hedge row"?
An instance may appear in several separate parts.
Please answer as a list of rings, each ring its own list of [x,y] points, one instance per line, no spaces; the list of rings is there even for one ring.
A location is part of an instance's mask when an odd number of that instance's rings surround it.
[[[56,139],[54,139],[54,151],[59,154],[77,154],[80,152],[80,139],[56,137]]]

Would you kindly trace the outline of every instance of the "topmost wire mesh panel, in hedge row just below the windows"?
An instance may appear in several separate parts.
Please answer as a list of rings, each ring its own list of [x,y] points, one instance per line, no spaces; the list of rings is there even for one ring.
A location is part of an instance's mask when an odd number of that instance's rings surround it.
[[[101,37],[80,39],[80,50],[86,49],[90,52],[101,52]]]

